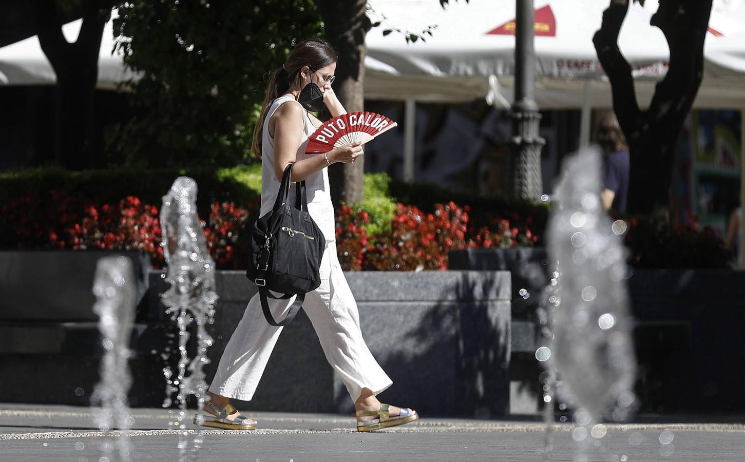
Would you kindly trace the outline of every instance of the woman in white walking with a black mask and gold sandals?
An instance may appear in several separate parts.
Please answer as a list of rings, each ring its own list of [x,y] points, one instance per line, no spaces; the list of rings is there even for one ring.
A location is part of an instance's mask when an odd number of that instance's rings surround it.
[[[303,309],[313,324],[326,359],[355,402],[357,429],[372,431],[408,423],[419,416],[411,409],[383,404],[375,397],[393,382],[362,338],[357,303],[337,258],[335,214],[327,167],[335,162],[355,162],[363,155],[362,148],[352,144],[325,154],[305,154],[308,137],[321,123],[308,110],[317,112],[325,104],[332,116],[346,113],[331,87],[336,63],[334,49],[323,40],[307,39],[293,48],[285,64],[270,78],[252,148],[261,153],[259,216],[272,210],[287,165],[294,163],[294,182],[305,180],[308,212],[323,232],[326,247],[320,266],[321,285],[305,294]],[[274,318],[284,317],[293,301],[294,297],[270,299]],[[252,399],[280,332],[282,327],[270,326],[264,320],[259,294],[256,294],[226,345],[209,387],[209,400],[204,406],[209,415],[195,417],[195,423],[227,429],[256,428],[256,422],[236,411],[229,399]]]

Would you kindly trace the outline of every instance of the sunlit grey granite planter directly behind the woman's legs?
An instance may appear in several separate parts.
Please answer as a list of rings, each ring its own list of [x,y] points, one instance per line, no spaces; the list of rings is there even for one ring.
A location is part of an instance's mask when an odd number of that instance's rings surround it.
[[[509,273],[347,272],[364,338],[393,379],[384,402],[425,415],[498,416],[509,411]],[[159,276],[151,273],[151,281]],[[162,291],[159,286],[153,294]],[[221,299],[209,350],[212,377],[226,340],[256,293],[242,271],[218,272]],[[352,412],[305,314],[282,332],[252,402],[266,411]]]

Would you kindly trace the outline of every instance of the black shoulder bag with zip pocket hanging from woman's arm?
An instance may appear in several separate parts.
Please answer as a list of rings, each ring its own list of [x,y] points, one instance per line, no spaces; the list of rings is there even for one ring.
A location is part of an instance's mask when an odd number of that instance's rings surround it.
[[[246,277],[259,287],[261,309],[272,326],[289,323],[305,301],[305,293],[321,284],[319,269],[326,241],[308,214],[305,181],[296,186],[295,206],[288,203],[292,164],[282,174],[274,207],[253,225],[251,255]],[[270,291],[284,295],[275,296]],[[297,294],[285,319],[279,323],[269,311],[267,297],[287,300]]]

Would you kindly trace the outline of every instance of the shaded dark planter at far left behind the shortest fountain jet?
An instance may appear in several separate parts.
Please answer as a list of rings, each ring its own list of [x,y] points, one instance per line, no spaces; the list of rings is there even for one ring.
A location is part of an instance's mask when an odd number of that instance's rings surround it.
[[[0,369],[12,371],[0,380],[5,402],[88,405],[98,382],[101,359],[98,314],[92,311],[93,276],[98,259],[130,257],[140,300],[148,289],[149,256],[107,250],[0,251]],[[167,329],[153,323],[141,303],[130,347],[136,380],[133,405],[162,402],[162,363],[151,352],[165,347]],[[157,383],[156,383],[157,382]],[[158,396],[156,396],[158,395]]]

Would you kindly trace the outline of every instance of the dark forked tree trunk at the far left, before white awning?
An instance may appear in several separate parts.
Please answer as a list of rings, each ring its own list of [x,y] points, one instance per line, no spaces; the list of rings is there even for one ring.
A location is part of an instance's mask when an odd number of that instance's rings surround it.
[[[89,166],[93,153],[87,145],[93,119],[95,83],[98,80],[98,51],[110,8],[98,1],[83,2],[83,25],[77,41],[62,34],[54,0],[36,0],[39,43],[57,75],[55,159],[72,170]]]

